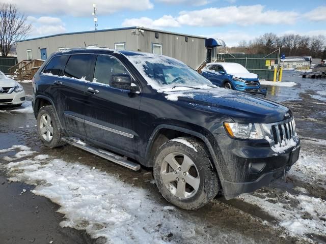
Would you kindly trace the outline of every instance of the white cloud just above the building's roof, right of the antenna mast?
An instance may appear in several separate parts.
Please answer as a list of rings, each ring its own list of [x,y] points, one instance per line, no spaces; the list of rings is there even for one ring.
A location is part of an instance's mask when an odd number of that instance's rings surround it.
[[[180,24],[171,15],[164,15],[159,19],[151,19],[147,17],[125,19],[122,26],[144,26],[148,28],[164,28],[164,27],[179,27]]]

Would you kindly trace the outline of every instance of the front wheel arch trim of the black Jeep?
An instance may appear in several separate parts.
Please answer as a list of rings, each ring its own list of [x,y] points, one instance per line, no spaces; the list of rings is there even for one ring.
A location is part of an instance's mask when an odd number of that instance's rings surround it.
[[[207,139],[207,137],[204,136],[203,134],[199,133],[199,132],[192,131],[192,130],[189,130],[189,129],[185,129],[185,128],[182,128],[182,127],[173,126],[173,125],[167,125],[167,124],[162,124],[162,125],[157,126],[154,129],[154,131],[152,132],[152,134],[151,134],[151,136],[150,136],[150,138],[148,140],[147,146],[146,146],[146,150],[145,150],[145,159],[146,160],[149,159],[150,148],[153,145],[154,138],[156,137],[157,133],[161,129],[171,129],[171,130],[175,130],[175,131],[187,133],[189,135],[192,135],[192,136],[195,136],[195,137],[201,139],[205,143],[205,145],[207,146],[207,148],[208,148],[210,157],[212,158],[212,161],[213,161],[212,163],[214,164],[215,169],[216,169],[216,173],[218,173],[219,178],[220,178],[221,181],[224,180],[224,177],[223,177],[223,174],[222,174],[222,169],[221,169],[220,164],[219,164],[219,160],[216,157],[216,155],[214,153],[214,149],[213,149],[211,143],[209,142],[209,140]]]

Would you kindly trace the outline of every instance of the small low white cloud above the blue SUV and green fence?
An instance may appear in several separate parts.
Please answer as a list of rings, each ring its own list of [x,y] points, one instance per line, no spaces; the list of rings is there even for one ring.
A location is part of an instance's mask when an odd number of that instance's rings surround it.
[[[252,33],[248,33],[248,32],[228,31],[228,32],[214,33],[206,37],[214,38],[214,39],[222,39],[223,41],[225,41],[226,46],[234,47],[234,46],[238,46],[239,41],[244,40],[246,42],[249,42],[250,40],[253,40],[258,36],[259,35],[255,36]]]

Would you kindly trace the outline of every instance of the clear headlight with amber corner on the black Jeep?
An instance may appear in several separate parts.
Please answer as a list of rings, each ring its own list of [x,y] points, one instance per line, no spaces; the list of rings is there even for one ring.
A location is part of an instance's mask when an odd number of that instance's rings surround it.
[[[263,130],[260,124],[240,124],[240,123],[224,123],[226,132],[232,138],[238,139],[263,139]]]

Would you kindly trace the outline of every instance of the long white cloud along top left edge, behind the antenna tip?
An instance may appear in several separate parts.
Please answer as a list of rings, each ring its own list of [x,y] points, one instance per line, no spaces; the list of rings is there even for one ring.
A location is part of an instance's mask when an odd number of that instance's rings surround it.
[[[8,0],[7,0],[8,1]],[[32,14],[57,14],[73,16],[91,16],[93,4],[97,6],[97,14],[112,14],[120,10],[142,11],[153,8],[150,0],[10,0],[21,12]]]

